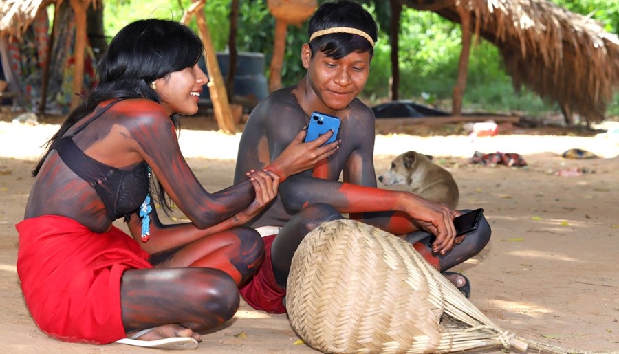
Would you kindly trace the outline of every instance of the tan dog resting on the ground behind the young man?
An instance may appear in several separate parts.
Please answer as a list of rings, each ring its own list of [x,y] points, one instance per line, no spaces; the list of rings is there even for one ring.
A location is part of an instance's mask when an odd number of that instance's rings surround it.
[[[378,177],[385,186],[407,184],[409,192],[455,209],[458,186],[448,170],[432,162],[432,156],[409,151],[395,157],[391,168]]]

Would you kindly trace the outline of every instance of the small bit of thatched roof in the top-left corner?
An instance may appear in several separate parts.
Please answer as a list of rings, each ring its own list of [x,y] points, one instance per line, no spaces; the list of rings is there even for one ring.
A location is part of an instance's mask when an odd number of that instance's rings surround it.
[[[34,21],[44,0],[0,1],[0,36],[21,36]]]

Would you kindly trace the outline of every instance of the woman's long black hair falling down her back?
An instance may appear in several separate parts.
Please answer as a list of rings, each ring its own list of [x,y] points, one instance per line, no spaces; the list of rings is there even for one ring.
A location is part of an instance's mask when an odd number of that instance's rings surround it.
[[[125,26],[114,36],[97,65],[97,84],[85,100],[69,113],[60,129],[47,142],[32,175],[36,176],[58,140],[79,120],[92,113],[107,100],[146,98],[159,102],[151,82],[174,71],[193,67],[204,53],[200,38],[186,25],[165,19],[143,19]],[[171,119],[180,129],[177,115]],[[170,210],[160,183],[156,195],[162,206]]]

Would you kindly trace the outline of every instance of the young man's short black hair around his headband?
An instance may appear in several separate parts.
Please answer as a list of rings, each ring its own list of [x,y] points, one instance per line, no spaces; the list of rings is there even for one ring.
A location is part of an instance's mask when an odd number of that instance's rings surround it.
[[[372,15],[360,4],[341,0],[325,2],[312,14],[307,23],[307,36],[314,32],[328,30],[333,27],[352,27],[367,33],[374,42],[378,40],[378,26]],[[369,52],[370,57],[374,49],[366,38],[357,34],[332,33],[318,36],[310,42],[312,56],[317,51],[324,52],[327,57],[341,59],[351,52]]]

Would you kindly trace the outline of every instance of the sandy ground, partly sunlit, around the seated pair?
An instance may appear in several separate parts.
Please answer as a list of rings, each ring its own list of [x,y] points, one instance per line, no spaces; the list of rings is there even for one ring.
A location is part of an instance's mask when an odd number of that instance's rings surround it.
[[[58,342],[41,333],[28,314],[15,270],[14,224],[22,219],[40,146],[57,128],[0,122],[0,352],[158,352]],[[470,278],[470,301],[495,324],[564,348],[619,353],[619,140],[565,131],[499,133],[475,140],[465,135],[378,135],[376,170],[382,173],[404,151],[435,155],[459,184],[459,207],[485,209],[492,239],[481,254],[455,270]],[[208,190],[231,184],[238,139],[215,131],[182,131],[182,150]],[[564,159],[560,154],[569,148],[600,158]],[[470,164],[476,150],[519,153],[528,167]],[[572,168],[585,173],[557,175]],[[195,352],[316,353],[298,344],[285,315],[253,311],[244,303],[224,328],[204,335]]]

